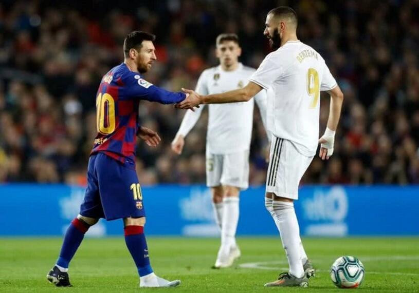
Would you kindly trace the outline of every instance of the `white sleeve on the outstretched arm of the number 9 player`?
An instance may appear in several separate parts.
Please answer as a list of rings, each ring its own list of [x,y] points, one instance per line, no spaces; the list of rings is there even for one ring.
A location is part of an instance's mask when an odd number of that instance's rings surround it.
[[[250,76],[250,81],[268,89],[284,71],[284,66],[278,60],[278,54],[272,52],[262,61],[259,68]]]

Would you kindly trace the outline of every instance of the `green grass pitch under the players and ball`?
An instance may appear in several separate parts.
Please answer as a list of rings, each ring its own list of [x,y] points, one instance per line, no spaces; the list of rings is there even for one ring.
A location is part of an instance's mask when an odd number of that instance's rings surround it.
[[[72,288],[56,288],[46,281],[56,261],[60,238],[0,239],[2,292],[329,292],[333,261],[342,255],[358,257],[366,278],[356,290],[370,292],[419,291],[419,238],[303,239],[309,258],[319,270],[308,288],[265,288],[263,284],[286,270],[279,238],[239,238],[242,257],[231,268],[211,269],[218,239],[148,239],[151,264],[161,277],[180,279],[178,288],[139,289],[137,271],[120,238],[86,238],[70,265]]]

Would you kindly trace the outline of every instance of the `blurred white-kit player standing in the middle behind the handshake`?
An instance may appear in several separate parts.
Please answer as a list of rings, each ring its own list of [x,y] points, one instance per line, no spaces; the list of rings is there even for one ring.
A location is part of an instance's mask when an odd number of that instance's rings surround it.
[[[216,38],[216,56],[220,65],[199,76],[196,92],[221,93],[244,87],[256,71],[239,62],[241,48],[236,34]],[[239,221],[239,193],[249,185],[249,149],[253,123],[254,101],[259,106],[266,129],[266,90],[254,99],[227,105],[209,105],[206,145],[207,186],[211,188],[215,221],[221,228],[221,246],[214,268],[231,266],[240,257],[235,241]],[[172,150],[180,154],[185,137],[194,127],[204,107],[188,110],[172,142]],[[270,138],[269,138],[270,139]]]

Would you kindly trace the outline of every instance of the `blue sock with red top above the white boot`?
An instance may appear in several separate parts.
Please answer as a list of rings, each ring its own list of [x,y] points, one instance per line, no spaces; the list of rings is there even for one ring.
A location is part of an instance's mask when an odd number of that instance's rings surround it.
[[[149,275],[153,272],[150,266],[149,250],[145,241],[144,227],[126,226],[124,228],[125,243],[131,256],[134,259],[140,277]]]

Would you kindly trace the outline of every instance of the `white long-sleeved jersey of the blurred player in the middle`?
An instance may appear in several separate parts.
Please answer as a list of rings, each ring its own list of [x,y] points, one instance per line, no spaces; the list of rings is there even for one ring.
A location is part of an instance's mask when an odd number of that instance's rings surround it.
[[[241,63],[234,71],[224,71],[221,65],[209,68],[199,76],[195,91],[207,95],[244,87],[254,71],[256,70]],[[266,129],[267,91],[260,91],[254,96],[254,100],[259,106]],[[228,154],[248,150],[252,133],[253,106],[253,99],[241,103],[210,104],[207,151],[213,154]],[[187,110],[176,135],[186,136],[198,121],[203,109],[204,105],[195,109],[195,112]]]

